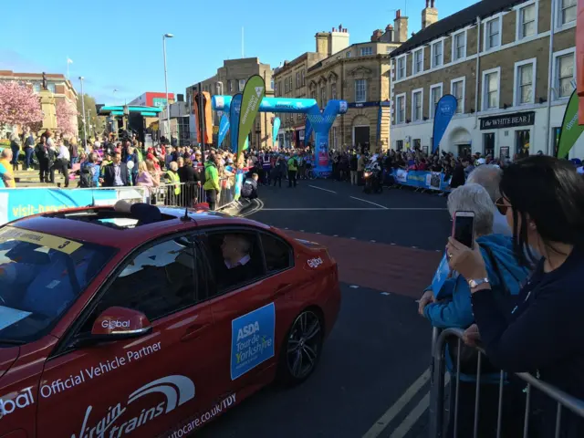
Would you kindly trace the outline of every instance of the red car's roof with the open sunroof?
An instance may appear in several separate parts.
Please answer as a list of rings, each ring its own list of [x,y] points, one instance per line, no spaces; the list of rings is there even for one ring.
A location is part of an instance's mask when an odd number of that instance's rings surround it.
[[[36,214],[16,220],[8,225],[38,233],[66,237],[79,242],[122,249],[133,248],[156,237],[171,234],[172,232],[186,231],[189,229],[196,230],[208,226],[252,225],[256,228],[266,230],[271,228],[266,224],[217,212],[188,211],[189,220],[185,221],[184,208],[162,207],[159,210],[165,216],[162,221],[153,224],[142,224],[133,228],[115,228],[96,222],[84,222],[72,218],[74,215],[83,213],[110,213],[114,211],[111,206],[82,207],[47,214]],[[131,217],[130,214],[127,216],[129,218]]]

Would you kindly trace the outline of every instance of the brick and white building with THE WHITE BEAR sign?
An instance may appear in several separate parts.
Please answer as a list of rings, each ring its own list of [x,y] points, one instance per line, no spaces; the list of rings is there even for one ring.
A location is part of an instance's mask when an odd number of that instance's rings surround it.
[[[453,94],[443,151],[553,154],[575,86],[576,9],[577,0],[484,0],[430,24],[427,2],[422,30],[391,53],[391,147],[431,149],[435,104]],[[570,156],[582,155],[580,139]]]

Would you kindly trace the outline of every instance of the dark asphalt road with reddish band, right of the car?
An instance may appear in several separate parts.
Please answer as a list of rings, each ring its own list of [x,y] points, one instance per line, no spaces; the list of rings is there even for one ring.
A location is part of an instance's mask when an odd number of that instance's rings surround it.
[[[308,381],[272,385],[197,436],[427,437],[431,327],[416,299],[450,233],[446,198],[332,181],[259,194],[242,215],[327,245],[338,261],[339,320]]]

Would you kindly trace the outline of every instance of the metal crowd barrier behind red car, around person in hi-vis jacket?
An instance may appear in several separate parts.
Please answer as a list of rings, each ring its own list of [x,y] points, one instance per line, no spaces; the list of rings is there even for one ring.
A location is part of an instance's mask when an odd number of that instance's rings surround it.
[[[235,177],[220,178],[219,185],[221,191],[217,193],[216,210],[235,202]],[[200,185],[198,183],[166,183],[150,188],[150,203],[153,205],[194,208],[197,204],[206,202],[207,196],[203,183]]]

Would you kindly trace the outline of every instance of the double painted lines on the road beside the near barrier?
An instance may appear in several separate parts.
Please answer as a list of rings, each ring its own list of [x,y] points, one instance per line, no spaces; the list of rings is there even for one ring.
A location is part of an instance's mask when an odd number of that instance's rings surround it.
[[[413,397],[422,389],[422,387],[430,381],[430,369],[427,369],[422,372],[422,375],[412,383],[412,386],[408,388],[401,397],[391,405],[390,409],[388,409],[377,422],[375,422],[371,427],[370,430],[367,431],[363,435],[362,438],[377,438],[378,436],[383,433],[385,428],[390,424],[390,422],[401,412],[401,410],[410,402],[412,401]],[[450,376],[446,374],[444,379],[444,386],[450,382]],[[428,409],[430,405],[430,392],[426,393],[422,401],[420,401],[410,412],[406,418],[403,419],[403,422],[391,433],[391,438],[402,438],[405,436],[403,430],[405,432],[409,432],[412,428],[412,425],[418,421],[418,419],[422,416],[422,413]],[[403,433],[403,434],[396,434],[396,433]]]

